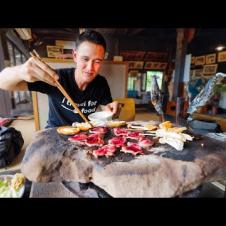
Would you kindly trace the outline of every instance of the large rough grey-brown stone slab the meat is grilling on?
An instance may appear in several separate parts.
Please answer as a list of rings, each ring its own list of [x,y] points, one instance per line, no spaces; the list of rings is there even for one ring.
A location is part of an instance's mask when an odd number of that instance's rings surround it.
[[[37,132],[27,147],[22,173],[33,182],[92,182],[112,197],[175,197],[204,182],[226,178],[226,144],[208,137],[185,143],[183,151],[157,143],[133,157],[95,159],[56,129]]]

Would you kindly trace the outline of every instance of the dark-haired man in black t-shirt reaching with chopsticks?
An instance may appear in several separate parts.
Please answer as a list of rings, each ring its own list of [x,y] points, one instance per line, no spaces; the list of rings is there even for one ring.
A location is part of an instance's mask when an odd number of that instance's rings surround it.
[[[46,93],[49,97],[47,128],[83,122],[81,116],[57,89],[52,77],[60,82],[86,116],[95,112],[99,105],[103,106],[103,110],[115,114],[118,103],[112,101],[107,80],[98,75],[105,51],[106,42],[102,35],[87,30],[79,35],[76,50],[72,52],[75,69],[52,71],[31,57],[22,65],[5,68],[0,73],[0,88]]]

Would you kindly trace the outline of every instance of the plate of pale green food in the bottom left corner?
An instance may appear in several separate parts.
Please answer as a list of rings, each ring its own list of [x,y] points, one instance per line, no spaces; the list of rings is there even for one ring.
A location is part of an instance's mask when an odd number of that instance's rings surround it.
[[[25,191],[25,177],[21,173],[0,175],[0,198],[21,198]]]

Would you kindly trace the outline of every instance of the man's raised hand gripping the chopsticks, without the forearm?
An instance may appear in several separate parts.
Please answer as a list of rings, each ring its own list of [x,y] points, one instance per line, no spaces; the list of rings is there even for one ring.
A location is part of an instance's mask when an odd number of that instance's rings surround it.
[[[19,66],[19,76],[26,82],[43,81],[56,86],[59,77],[54,70],[34,57],[30,57],[24,64]]]

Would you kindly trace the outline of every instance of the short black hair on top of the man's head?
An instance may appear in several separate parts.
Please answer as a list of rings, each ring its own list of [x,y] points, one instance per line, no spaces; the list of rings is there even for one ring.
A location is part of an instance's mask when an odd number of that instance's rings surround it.
[[[104,37],[95,30],[87,29],[82,32],[76,40],[76,48],[78,48],[78,46],[85,41],[101,45],[104,47],[104,51],[106,51],[107,45]]]

